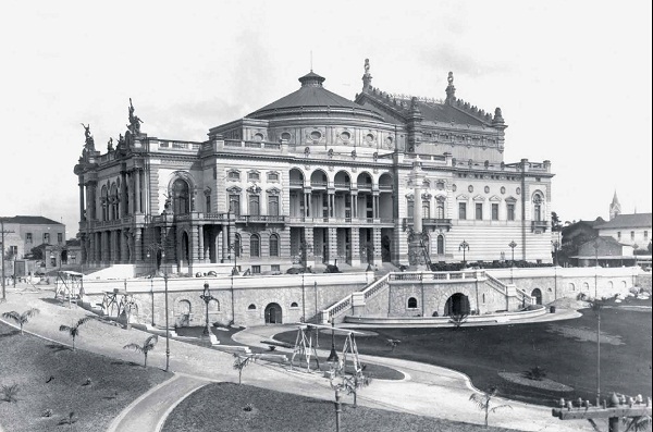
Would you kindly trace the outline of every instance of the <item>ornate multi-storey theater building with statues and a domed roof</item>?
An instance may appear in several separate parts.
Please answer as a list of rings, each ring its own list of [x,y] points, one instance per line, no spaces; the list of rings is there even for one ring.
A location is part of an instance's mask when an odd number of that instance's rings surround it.
[[[324,81],[311,71],[201,143],[148,136],[132,104],[107,152],[85,126],[84,262],[141,274],[408,264],[414,215],[432,262],[552,261],[551,164],[504,162],[501,109],[458,99],[452,73],[443,99],[373,87],[367,61],[353,101]]]

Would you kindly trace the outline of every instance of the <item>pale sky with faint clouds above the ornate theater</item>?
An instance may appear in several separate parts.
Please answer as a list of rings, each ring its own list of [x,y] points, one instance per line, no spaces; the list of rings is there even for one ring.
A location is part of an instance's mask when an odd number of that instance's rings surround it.
[[[505,162],[550,160],[562,221],[651,212],[651,2],[12,1],[0,5],[0,215],[79,215],[73,168],[124,134],[197,140],[299,88],[456,96],[508,125]]]

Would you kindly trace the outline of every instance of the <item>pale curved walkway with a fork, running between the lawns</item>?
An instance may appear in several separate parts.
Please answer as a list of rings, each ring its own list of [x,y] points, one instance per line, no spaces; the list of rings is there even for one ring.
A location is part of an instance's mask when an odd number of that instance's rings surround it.
[[[44,299],[52,298],[51,291],[8,291],[8,301],[0,304],[0,313],[9,310],[26,310],[37,307],[41,313],[26,325],[26,331],[65,344],[65,334],[59,332],[60,323],[67,323],[90,314],[87,310],[73,306],[62,307]],[[136,329],[122,330],[100,321],[86,324],[86,332],[77,341],[78,349],[102,354],[122,360],[133,360],[122,347],[131,342],[147,337],[147,333]],[[234,338],[248,345],[263,345],[261,340],[271,337],[284,326],[256,326],[237,333]],[[160,341],[162,344],[163,341]],[[158,428],[167,416],[194,388],[209,381],[237,382],[237,372],[233,370],[231,354],[215,349],[170,341],[170,368],[180,378],[155,387],[135,400],[115,419],[110,431],[131,431],[124,424],[128,416],[138,417],[139,432],[158,432]],[[393,411],[409,412],[419,416],[430,416],[469,423],[483,423],[483,415],[468,400],[472,392],[467,377],[461,373],[429,365],[361,356],[365,361],[377,362],[398,369],[406,373],[404,381],[375,380],[358,395],[360,405],[370,408],[382,408]],[[152,350],[148,356],[151,367],[163,368],[165,365],[164,349]],[[243,377],[246,384],[264,388],[275,388],[280,392],[293,393],[325,400],[332,400],[333,391],[323,377],[287,370],[276,363],[264,361],[252,363]],[[167,394],[170,393],[170,394]],[[176,396],[175,396],[176,395]],[[170,396],[170,397],[168,397]],[[591,431],[584,421],[560,421],[551,415],[551,409],[510,400],[512,410],[494,415],[493,425],[522,431]],[[151,415],[145,415],[149,410]],[[131,418],[131,417],[130,417]],[[136,430],[136,429],[134,429]]]

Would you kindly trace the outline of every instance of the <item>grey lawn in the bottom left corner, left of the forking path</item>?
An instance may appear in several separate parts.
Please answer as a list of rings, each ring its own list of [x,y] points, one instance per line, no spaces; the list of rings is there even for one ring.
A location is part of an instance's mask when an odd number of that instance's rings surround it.
[[[0,425],[8,432],[104,431],[134,399],[171,377],[141,362],[73,351],[0,323],[0,385],[19,386],[17,403],[0,402]],[[50,417],[44,417],[47,410]],[[70,412],[74,429],[59,425]]]

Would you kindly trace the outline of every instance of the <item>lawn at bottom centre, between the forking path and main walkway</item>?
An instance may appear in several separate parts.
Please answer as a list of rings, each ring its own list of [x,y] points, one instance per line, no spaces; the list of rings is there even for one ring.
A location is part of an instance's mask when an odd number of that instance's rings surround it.
[[[361,394],[365,393],[365,388]],[[333,396],[333,393],[332,393]],[[350,400],[346,396],[347,402]],[[492,418],[490,418],[492,422]],[[341,430],[370,432],[508,432],[505,428],[343,404]],[[271,390],[213,383],[193,393],[170,414],[162,432],[335,431],[334,403]]]

